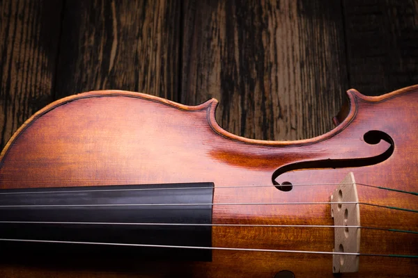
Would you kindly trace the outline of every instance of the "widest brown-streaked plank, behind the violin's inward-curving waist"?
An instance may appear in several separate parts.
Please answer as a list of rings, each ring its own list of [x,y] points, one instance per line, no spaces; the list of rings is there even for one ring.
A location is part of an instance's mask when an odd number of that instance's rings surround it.
[[[339,1],[185,1],[181,98],[265,140],[332,129],[348,89]]]

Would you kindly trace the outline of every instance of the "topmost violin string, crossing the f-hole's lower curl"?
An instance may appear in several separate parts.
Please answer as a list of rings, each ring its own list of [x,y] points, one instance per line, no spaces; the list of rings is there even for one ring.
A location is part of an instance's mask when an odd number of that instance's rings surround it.
[[[47,193],[92,193],[92,192],[113,192],[113,191],[153,191],[153,190],[189,190],[189,189],[226,189],[226,188],[267,188],[279,186],[338,186],[338,185],[353,185],[365,186],[370,188],[377,188],[381,190],[390,190],[398,193],[405,193],[410,195],[417,195],[418,193],[412,191],[399,190],[395,188],[386,188],[382,186],[371,186],[366,183],[299,183],[286,185],[256,185],[256,186],[201,186],[201,187],[178,187],[178,188],[118,188],[118,189],[91,189],[91,190],[51,190],[51,191],[18,191],[18,192],[1,192],[0,195],[17,195],[17,194],[47,194]],[[123,186],[123,185],[121,185]]]

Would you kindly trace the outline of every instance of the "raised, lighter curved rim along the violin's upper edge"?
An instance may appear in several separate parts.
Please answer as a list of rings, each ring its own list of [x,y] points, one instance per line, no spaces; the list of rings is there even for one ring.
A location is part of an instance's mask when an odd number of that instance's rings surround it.
[[[6,142],[6,145],[3,147],[3,149],[0,152],[0,161],[3,161],[3,158],[6,156],[8,149],[13,145],[13,142],[17,138],[17,136],[26,129],[27,126],[31,124],[31,122],[38,119],[38,117],[41,117],[42,115],[45,115],[49,111],[52,111],[54,108],[61,106],[63,104],[67,104],[71,101],[75,101],[77,99],[84,99],[89,97],[106,97],[106,96],[125,96],[125,97],[134,97],[139,99],[146,99],[149,101],[155,101],[160,104],[164,104],[167,106],[170,106],[172,108],[180,109],[182,111],[201,111],[201,110],[207,110],[208,111],[208,124],[212,128],[212,130],[217,133],[219,136],[222,136],[224,138],[228,138],[230,140],[242,142],[249,145],[263,145],[263,146],[270,146],[270,147],[287,147],[287,146],[302,146],[302,145],[311,145],[316,142],[323,141],[327,138],[331,138],[332,136],[335,136],[336,134],[343,131],[343,129],[346,128],[350,124],[350,122],[354,119],[355,114],[357,113],[357,99],[365,102],[381,102],[386,101],[388,99],[392,99],[393,97],[398,97],[400,95],[406,94],[408,92],[413,92],[415,90],[418,90],[418,84],[417,85],[410,85],[405,88],[401,88],[398,90],[394,90],[392,92],[387,92],[383,95],[375,96],[375,97],[369,97],[366,95],[362,95],[361,92],[354,88],[350,88],[346,91],[346,97],[348,99],[348,113],[341,116],[341,122],[338,122],[338,125],[334,127],[334,129],[327,131],[326,133],[321,134],[320,136],[316,136],[313,138],[307,138],[302,140],[258,140],[258,139],[250,139],[245,138],[242,136],[238,136],[236,134],[233,134],[229,131],[226,131],[222,128],[222,126],[219,126],[216,118],[215,118],[215,112],[216,108],[219,104],[219,101],[215,98],[208,99],[207,101],[204,101],[201,104],[195,105],[195,106],[188,106],[185,104],[180,104],[176,101],[171,101],[169,99],[165,99],[163,97],[157,97],[154,95],[148,95],[144,92],[132,92],[129,90],[91,90],[86,92],[80,92],[75,95],[70,95],[68,97],[63,97],[61,99],[57,99],[56,101],[53,101],[52,103],[48,104],[44,108],[40,109],[39,111],[36,111],[36,113],[33,113],[29,119],[27,119],[10,137],[8,142]],[[341,107],[342,109],[342,107]]]

